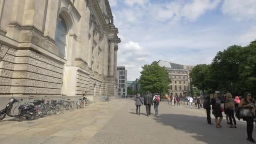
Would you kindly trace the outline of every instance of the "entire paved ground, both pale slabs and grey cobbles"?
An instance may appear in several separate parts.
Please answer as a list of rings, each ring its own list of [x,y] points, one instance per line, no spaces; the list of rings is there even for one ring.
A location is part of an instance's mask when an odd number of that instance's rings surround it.
[[[160,102],[159,116],[136,115],[131,99],[91,104],[87,109],[65,111],[35,120],[0,122],[0,144],[251,144],[245,122],[237,128],[206,123],[204,109]],[[212,115],[213,118],[213,115]],[[214,120],[212,119],[214,123]],[[256,132],[253,131],[253,136]]]

